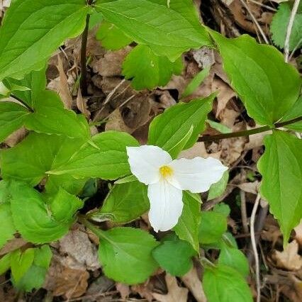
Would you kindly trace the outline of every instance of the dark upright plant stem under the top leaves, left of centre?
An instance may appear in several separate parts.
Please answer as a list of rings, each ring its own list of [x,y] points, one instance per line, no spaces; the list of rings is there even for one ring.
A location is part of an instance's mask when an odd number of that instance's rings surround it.
[[[93,0],[89,0],[87,2],[88,5],[92,4]],[[86,16],[86,26],[82,33],[82,46],[81,46],[81,79],[80,79],[80,86],[82,96],[87,96],[87,69],[86,69],[86,50],[87,50],[87,39],[88,39],[88,30],[89,30],[89,21],[90,15],[87,13]]]

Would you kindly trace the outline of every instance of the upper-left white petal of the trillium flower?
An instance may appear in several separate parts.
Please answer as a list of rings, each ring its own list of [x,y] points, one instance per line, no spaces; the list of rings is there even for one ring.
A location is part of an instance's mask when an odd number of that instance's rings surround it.
[[[157,146],[127,147],[127,155],[131,172],[144,184],[159,181],[160,167],[172,162],[169,153]]]

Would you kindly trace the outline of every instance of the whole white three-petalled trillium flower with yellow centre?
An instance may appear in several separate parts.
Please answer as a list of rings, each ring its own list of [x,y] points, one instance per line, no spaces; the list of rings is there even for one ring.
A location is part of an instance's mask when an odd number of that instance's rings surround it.
[[[149,220],[156,232],[171,230],[181,216],[182,191],[208,191],[228,169],[213,157],[172,160],[162,148],[152,145],[127,147],[130,169],[147,184],[150,200]]]

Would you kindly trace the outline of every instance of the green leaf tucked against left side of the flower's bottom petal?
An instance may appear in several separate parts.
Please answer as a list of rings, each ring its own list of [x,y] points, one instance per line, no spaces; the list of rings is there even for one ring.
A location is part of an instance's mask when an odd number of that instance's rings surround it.
[[[101,210],[92,219],[107,218],[114,223],[129,223],[149,208],[147,186],[139,181],[131,181],[113,186]]]

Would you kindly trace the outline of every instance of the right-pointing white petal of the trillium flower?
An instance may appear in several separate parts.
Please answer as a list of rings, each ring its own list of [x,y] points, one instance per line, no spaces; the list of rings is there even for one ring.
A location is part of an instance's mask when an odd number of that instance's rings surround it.
[[[173,177],[167,179],[170,184],[181,190],[192,193],[205,192],[223,177],[228,167],[216,158],[195,157],[193,160],[174,160],[169,167],[173,169]]]

